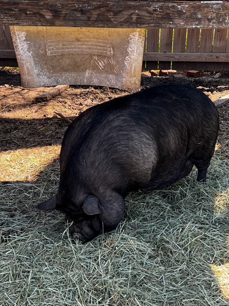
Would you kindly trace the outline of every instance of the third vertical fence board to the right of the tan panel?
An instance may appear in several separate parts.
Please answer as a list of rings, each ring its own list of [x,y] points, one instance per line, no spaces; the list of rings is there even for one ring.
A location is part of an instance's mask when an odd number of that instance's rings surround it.
[[[185,53],[186,29],[174,29],[173,52]],[[173,62],[172,69],[184,70],[184,62]]]

